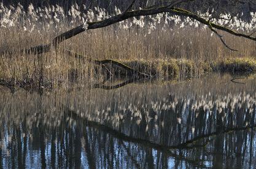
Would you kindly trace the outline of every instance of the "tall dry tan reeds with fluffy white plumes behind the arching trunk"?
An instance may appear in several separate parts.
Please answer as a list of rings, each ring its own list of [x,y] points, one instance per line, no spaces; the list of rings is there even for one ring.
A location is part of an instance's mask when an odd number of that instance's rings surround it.
[[[85,82],[94,80],[98,74],[95,66],[69,56],[64,49],[95,59],[115,59],[131,67],[152,65],[156,61],[168,63],[173,59],[178,62],[190,60],[197,74],[204,72],[200,70],[204,69],[202,63],[210,65],[227,58],[256,58],[255,42],[220,32],[227,44],[238,50],[230,51],[206,26],[190,18],[166,13],[131,18],[107,28],[86,31],[64,41],[56,51],[41,56],[14,52],[20,48],[49,43],[61,32],[86,21],[104,20],[120,13],[118,9],[115,9],[115,13],[106,13],[99,8],[85,13],[81,11],[78,6],[72,6],[65,13],[60,6],[34,9],[33,5],[25,11],[22,6],[4,7],[0,4],[0,51],[6,53],[0,58],[0,78],[39,79],[39,75],[44,73],[45,79],[56,83],[68,83],[74,75]],[[208,18],[211,17],[209,13],[198,15]],[[251,15],[249,23],[237,17],[212,21],[249,34],[256,25],[256,13]],[[230,18],[228,14],[222,14],[221,17]]]

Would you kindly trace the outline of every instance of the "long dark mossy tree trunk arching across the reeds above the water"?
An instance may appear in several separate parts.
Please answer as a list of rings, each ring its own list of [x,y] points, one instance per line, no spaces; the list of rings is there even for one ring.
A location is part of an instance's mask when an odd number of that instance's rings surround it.
[[[52,43],[46,44],[46,45],[39,45],[36,47],[28,48],[25,50],[20,50],[21,53],[26,53],[26,54],[42,54],[42,53],[47,53],[51,51],[52,49],[55,49],[58,47],[58,45],[63,42],[64,40],[70,39],[71,37],[74,37],[86,30],[90,29],[98,29],[98,28],[103,28],[106,26],[109,26],[111,24],[118,23],[120,21],[127,20],[128,18],[132,17],[141,17],[141,16],[147,16],[147,15],[155,15],[157,13],[163,13],[163,12],[168,12],[174,15],[179,15],[179,16],[184,16],[184,17],[189,17],[192,18],[196,21],[199,21],[202,24],[206,24],[208,26],[211,26],[212,29],[219,29],[221,31],[228,32],[229,34],[232,34],[234,36],[238,37],[244,37],[246,39],[254,40],[256,41],[256,37],[253,37],[252,34],[246,35],[242,34],[236,31],[233,31],[229,28],[226,28],[225,26],[220,26],[219,24],[215,24],[212,22],[209,22],[208,20],[196,15],[195,13],[189,12],[188,10],[180,9],[176,6],[177,4],[184,3],[184,2],[190,2],[194,0],[178,0],[178,1],[173,1],[172,4],[167,4],[166,6],[161,6],[161,7],[149,7],[148,9],[140,9],[140,10],[134,10],[134,11],[129,11],[131,7],[134,4],[134,0],[131,2],[131,5],[128,7],[128,9],[125,10],[125,12],[116,15],[111,18],[107,18],[106,20],[103,21],[96,21],[96,22],[89,22],[88,27],[85,28],[84,24],[81,24],[80,26],[77,26],[76,28],[73,28],[69,31],[64,32],[63,34],[60,34],[60,36],[55,37],[53,39]],[[216,33],[216,32],[215,32]],[[217,33],[217,35],[220,37],[220,35]],[[222,43],[224,42],[222,38]],[[223,43],[225,47],[228,47],[228,45],[224,42]],[[229,48],[229,47],[228,47]],[[230,48],[230,50],[232,50]],[[10,52],[6,52],[10,53]],[[3,55],[4,53],[1,53],[0,55]]]

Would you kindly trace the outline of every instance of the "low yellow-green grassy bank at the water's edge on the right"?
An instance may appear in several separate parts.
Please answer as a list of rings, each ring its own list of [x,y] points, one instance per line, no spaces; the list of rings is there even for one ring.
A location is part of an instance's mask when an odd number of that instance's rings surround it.
[[[256,59],[227,58],[211,62],[195,62],[187,59],[156,59],[154,61],[123,61],[126,65],[140,72],[158,78],[193,78],[210,72],[222,73],[255,73]]]

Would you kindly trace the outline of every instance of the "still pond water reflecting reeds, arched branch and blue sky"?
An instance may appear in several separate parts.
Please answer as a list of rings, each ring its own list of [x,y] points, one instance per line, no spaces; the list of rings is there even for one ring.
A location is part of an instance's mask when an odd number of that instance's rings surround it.
[[[256,78],[0,88],[0,168],[254,168]]]

